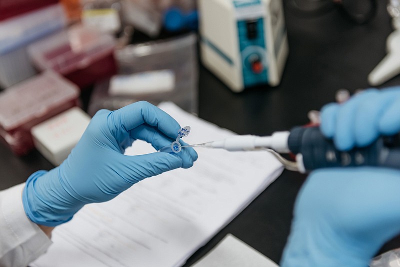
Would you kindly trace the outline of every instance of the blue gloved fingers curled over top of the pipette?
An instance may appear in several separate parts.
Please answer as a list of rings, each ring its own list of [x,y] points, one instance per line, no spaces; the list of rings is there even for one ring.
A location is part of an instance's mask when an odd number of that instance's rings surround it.
[[[400,131],[400,87],[368,89],[343,104],[321,110],[322,133],[340,150],[366,146],[379,135]]]

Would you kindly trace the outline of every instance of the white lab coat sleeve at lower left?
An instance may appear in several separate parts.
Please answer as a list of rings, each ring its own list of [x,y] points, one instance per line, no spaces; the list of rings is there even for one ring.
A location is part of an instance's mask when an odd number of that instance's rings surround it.
[[[0,266],[24,267],[43,254],[51,240],[26,216],[24,183],[0,191]]]

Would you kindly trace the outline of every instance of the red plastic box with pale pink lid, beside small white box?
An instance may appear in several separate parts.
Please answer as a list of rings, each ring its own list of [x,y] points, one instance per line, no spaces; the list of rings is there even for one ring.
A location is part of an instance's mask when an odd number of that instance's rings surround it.
[[[76,85],[46,71],[0,93],[0,140],[16,155],[33,149],[30,129],[79,105]]]

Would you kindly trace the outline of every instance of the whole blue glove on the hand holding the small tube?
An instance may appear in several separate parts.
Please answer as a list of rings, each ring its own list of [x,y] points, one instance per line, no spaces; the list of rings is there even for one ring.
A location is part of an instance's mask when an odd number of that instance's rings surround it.
[[[110,200],[146,177],[189,168],[197,159],[191,148],[123,155],[135,139],[151,143],[156,150],[171,144],[179,129],[174,119],[144,101],[116,111],[98,111],[60,166],[27,179],[22,193],[27,216],[37,224],[56,226],[70,220],[84,204]]]

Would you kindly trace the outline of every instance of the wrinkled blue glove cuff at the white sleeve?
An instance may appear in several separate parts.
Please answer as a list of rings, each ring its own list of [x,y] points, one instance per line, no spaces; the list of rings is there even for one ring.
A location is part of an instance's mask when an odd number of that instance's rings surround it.
[[[47,173],[48,171],[39,170],[29,176],[22,191],[22,205],[26,216],[32,222],[53,227],[72,219],[75,212],[58,213],[51,205],[44,201],[43,197],[38,192],[36,192],[35,183],[37,179],[40,177],[43,179],[44,177],[42,176]],[[49,212],[49,210],[51,212]]]

